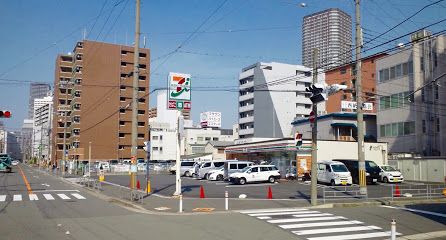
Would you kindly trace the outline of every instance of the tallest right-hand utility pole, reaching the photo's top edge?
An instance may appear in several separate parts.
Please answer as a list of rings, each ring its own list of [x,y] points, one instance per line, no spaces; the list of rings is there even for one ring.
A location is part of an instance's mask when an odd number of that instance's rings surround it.
[[[356,33],[355,33],[355,62],[356,62],[356,115],[358,125],[358,164],[359,164],[359,192],[362,195],[367,194],[367,181],[365,171],[365,155],[364,155],[364,116],[362,110],[362,81],[361,81],[361,9],[360,0],[355,0],[356,8]]]

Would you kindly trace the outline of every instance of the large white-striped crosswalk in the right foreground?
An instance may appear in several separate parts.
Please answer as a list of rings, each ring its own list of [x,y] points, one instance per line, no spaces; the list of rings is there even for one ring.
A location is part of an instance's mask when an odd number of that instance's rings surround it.
[[[308,240],[389,239],[390,231],[315,209],[283,208],[239,211]],[[401,235],[397,233],[397,235]]]

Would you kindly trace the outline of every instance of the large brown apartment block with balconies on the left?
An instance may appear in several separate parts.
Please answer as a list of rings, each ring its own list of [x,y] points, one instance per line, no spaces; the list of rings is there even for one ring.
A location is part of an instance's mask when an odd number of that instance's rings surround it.
[[[133,57],[131,46],[88,40],[57,56],[52,161],[63,158],[65,116],[69,160],[88,160],[90,142],[92,160],[131,158]],[[149,59],[140,49],[138,158],[148,139]]]

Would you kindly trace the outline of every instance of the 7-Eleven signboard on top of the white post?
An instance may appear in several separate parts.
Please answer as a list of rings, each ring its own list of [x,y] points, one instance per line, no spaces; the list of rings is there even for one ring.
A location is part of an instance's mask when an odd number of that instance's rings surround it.
[[[169,73],[167,84],[167,108],[178,110],[191,109],[190,74]]]

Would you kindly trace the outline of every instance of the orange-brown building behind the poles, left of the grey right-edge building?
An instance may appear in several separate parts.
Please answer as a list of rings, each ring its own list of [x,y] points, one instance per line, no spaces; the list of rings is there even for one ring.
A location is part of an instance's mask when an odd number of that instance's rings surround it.
[[[373,110],[365,110],[365,113],[376,113],[376,60],[386,55],[383,53],[375,54],[362,60],[363,101],[373,104]],[[328,97],[328,101],[326,102],[327,113],[355,111],[343,109],[341,105],[342,101],[356,102],[354,70],[355,64],[346,64],[325,72],[325,82],[328,85],[347,85],[347,90],[337,92]]]

